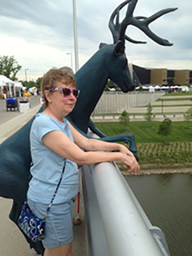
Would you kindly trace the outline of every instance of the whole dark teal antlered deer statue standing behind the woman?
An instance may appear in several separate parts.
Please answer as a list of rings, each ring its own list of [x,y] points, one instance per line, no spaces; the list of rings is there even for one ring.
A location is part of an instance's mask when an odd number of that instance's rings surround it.
[[[109,20],[109,28],[113,35],[113,44],[100,44],[99,51],[76,73],[77,88],[81,90],[81,93],[76,107],[67,116],[69,122],[84,134],[86,134],[88,127],[90,127],[93,132],[102,137],[101,140],[129,142],[129,149],[135,156],[136,146],[132,134],[120,134],[118,136],[108,137],[97,129],[95,124],[90,120],[90,116],[104,91],[108,79],[118,84],[124,93],[133,89],[131,75],[127,67],[127,58],[125,56],[125,40],[136,44],[143,44],[145,42],[132,40],[125,35],[127,26],[136,26],[157,44],[172,45],[167,40],[155,35],[148,28],[148,25],[165,13],[173,12],[177,8],[161,10],[150,17],[133,17],[137,2],[138,0],[127,0],[120,4],[112,13]],[[125,19],[120,23],[120,10],[127,4]],[[10,218],[15,223],[17,223],[20,207],[24,202],[28,189],[31,164],[29,131],[33,120],[34,117],[0,145],[0,196],[13,199]],[[30,246],[35,248],[36,252],[43,252],[44,248],[41,242],[33,243],[28,238],[26,239]]]

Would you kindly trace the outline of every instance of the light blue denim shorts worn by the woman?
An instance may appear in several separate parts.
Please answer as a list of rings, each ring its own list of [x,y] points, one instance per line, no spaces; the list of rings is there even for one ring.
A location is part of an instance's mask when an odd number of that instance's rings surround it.
[[[48,204],[36,203],[28,198],[31,211],[38,218],[43,218]],[[71,243],[74,239],[72,222],[72,200],[63,204],[52,204],[45,219],[45,238],[42,240],[45,248],[54,248]]]

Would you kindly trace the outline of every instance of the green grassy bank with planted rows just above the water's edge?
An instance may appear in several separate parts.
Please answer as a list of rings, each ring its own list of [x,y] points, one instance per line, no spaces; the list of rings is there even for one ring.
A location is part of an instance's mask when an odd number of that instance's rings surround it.
[[[141,168],[192,166],[192,122],[172,122],[168,145],[157,134],[161,122],[97,123],[108,136],[129,132],[134,135]],[[120,169],[121,166],[119,166]]]

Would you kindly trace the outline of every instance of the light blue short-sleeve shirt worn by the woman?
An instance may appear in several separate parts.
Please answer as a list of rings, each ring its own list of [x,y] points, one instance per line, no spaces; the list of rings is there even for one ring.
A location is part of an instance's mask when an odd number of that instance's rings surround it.
[[[44,113],[36,114],[30,132],[33,166],[31,166],[32,179],[29,182],[28,198],[44,204],[51,202],[65,160],[42,143],[43,136],[51,131],[62,131],[71,141],[74,141],[65,118],[63,118],[63,122],[58,122]],[[53,204],[61,204],[72,199],[77,195],[78,188],[77,164],[67,159],[63,179]]]

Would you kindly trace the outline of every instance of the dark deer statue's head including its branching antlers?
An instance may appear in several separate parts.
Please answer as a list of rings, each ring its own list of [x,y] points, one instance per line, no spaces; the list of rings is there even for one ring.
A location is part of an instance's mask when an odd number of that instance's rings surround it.
[[[160,38],[159,36],[154,34],[150,30],[150,28],[148,28],[148,25],[162,15],[177,10],[177,8],[167,8],[155,13],[150,17],[133,17],[133,12],[137,2],[138,0],[127,0],[124,3],[120,4],[111,14],[111,17],[109,19],[109,29],[113,35],[113,46],[109,45],[111,47],[111,51],[113,51],[113,56],[106,57],[109,58],[110,63],[109,78],[114,83],[118,84],[123,92],[128,92],[133,88],[131,75],[129,73],[129,68],[127,67],[127,58],[125,56],[125,40],[134,44],[146,44],[146,42],[136,41],[125,35],[127,26],[132,25],[136,28],[141,29],[141,31],[143,31],[145,35],[154,40],[154,42],[156,42],[157,44],[165,46],[173,45],[172,43],[168,42],[168,40]],[[126,4],[128,4],[127,12],[124,20],[122,20],[122,22],[120,23],[119,13]],[[106,44],[100,44],[100,48],[105,46]]]

